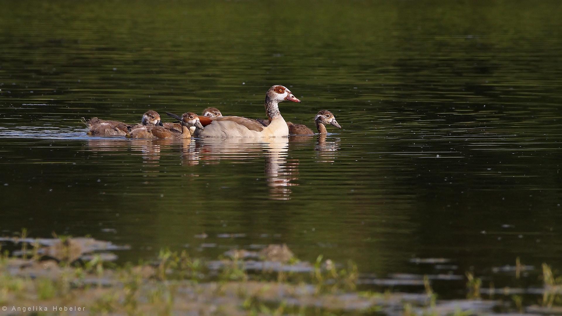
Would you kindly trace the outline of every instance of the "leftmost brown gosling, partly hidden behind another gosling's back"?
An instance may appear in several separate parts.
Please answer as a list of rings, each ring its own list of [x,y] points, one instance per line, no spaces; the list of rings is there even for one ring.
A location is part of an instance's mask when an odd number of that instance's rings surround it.
[[[106,121],[100,120],[98,118],[92,118],[86,121],[88,125],[88,135],[103,135],[103,136],[126,136],[129,134],[129,130],[135,127],[142,126],[155,126],[160,125],[160,115],[156,111],[149,110],[143,114],[140,124],[135,126],[131,124],[125,124],[120,121]]]

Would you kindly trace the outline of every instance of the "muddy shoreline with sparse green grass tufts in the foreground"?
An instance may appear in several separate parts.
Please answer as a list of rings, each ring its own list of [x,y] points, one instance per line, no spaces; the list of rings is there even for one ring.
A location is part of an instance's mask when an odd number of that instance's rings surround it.
[[[560,313],[562,299],[562,278],[546,264],[541,288],[482,288],[466,273],[467,299],[439,300],[432,290],[439,276],[366,278],[351,261],[320,255],[308,263],[286,245],[230,250],[218,260],[161,250],[152,261],[117,266],[104,258],[126,245],[87,237],[0,241],[21,246],[0,259],[0,315],[538,315]],[[424,290],[394,288],[411,282]],[[525,305],[529,297],[538,304]]]

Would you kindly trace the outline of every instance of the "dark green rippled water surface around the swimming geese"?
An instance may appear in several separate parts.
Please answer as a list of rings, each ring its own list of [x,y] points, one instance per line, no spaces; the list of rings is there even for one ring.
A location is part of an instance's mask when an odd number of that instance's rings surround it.
[[[131,245],[124,261],[284,242],[377,276],[474,270],[497,287],[517,256],[562,267],[559,1],[0,4],[4,235],[91,234]],[[181,142],[80,122],[263,118],[273,84],[302,100],[280,103],[286,120],[328,109],[343,129]]]

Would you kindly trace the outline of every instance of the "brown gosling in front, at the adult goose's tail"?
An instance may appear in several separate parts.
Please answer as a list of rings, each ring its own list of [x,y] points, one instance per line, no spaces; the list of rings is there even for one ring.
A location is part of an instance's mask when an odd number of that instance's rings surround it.
[[[198,128],[203,128],[199,121],[197,114],[193,112],[187,112],[180,118],[178,115],[166,112],[166,114],[173,116],[180,121],[182,125],[182,132],[178,132],[175,129],[169,129],[160,126],[144,126],[132,129],[130,132],[131,138],[191,138],[191,131],[189,128],[195,126]]]

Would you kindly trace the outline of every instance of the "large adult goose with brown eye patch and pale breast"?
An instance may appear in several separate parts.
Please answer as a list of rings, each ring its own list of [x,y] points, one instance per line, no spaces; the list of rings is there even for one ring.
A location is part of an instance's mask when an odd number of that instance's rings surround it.
[[[289,135],[287,123],[279,112],[279,102],[289,100],[301,102],[283,85],[274,85],[265,94],[265,110],[270,124],[264,126],[256,120],[241,116],[210,118],[211,124],[204,130],[196,129],[195,134],[207,137],[283,137]]]

